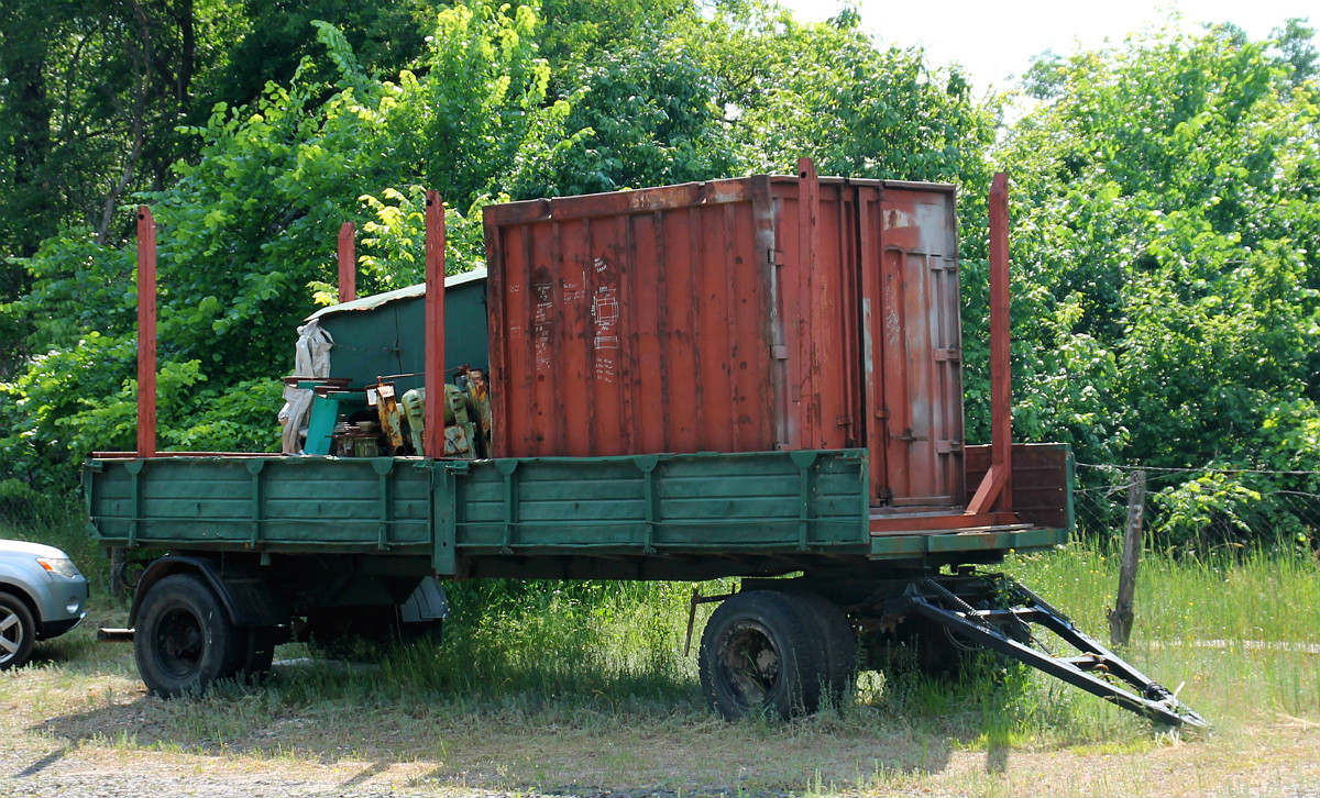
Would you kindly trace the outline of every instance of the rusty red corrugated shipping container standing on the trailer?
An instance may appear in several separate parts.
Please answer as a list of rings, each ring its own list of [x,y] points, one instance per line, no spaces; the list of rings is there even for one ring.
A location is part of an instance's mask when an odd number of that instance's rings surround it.
[[[754,175],[486,208],[496,456],[866,447],[964,500],[953,187]]]

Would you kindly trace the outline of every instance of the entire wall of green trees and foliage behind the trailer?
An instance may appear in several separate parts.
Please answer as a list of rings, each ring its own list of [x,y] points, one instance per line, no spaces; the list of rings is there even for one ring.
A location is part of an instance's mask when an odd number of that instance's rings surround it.
[[[969,441],[989,435],[985,200],[1006,169],[1018,437],[1222,467],[1162,484],[1171,539],[1288,532],[1257,497],[1320,485],[1236,470],[1308,471],[1320,450],[1312,41],[1291,20],[1266,41],[1225,25],[1045,53],[1023,80],[1034,109],[1003,127],[1001,98],[879,46],[851,8],[803,24],[768,0],[13,0],[0,495],[63,489],[87,451],[132,443],[136,202],[161,231],[164,443],[267,448],[343,220],[360,222],[362,290],[385,290],[420,278],[424,187],[467,269],[490,202],[810,156],[960,187]]]

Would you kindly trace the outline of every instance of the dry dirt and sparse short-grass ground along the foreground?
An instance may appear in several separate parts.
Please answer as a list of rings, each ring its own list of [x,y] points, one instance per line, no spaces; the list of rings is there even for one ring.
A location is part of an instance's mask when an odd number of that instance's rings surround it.
[[[279,678],[279,673],[276,674]],[[131,673],[0,674],[0,797],[1270,795],[1320,798],[1320,724],[1262,711],[1195,739],[987,745],[677,708],[491,718],[147,696]],[[639,728],[640,725],[640,728]]]

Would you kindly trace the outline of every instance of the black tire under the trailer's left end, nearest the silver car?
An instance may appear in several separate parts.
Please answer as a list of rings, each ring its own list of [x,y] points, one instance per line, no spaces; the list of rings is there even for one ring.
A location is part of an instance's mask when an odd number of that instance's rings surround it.
[[[133,657],[147,690],[161,698],[205,691],[243,665],[244,636],[201,576],[173,574],[150,586],[137,611]]]

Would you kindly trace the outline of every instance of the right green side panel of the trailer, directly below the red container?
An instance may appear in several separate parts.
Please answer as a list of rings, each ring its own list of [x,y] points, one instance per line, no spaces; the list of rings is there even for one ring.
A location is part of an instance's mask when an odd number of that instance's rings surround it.
[[[788,452],[475,462],[458,479],[457,547],[865,554],[866,484],[859,451],[807,466]]]

